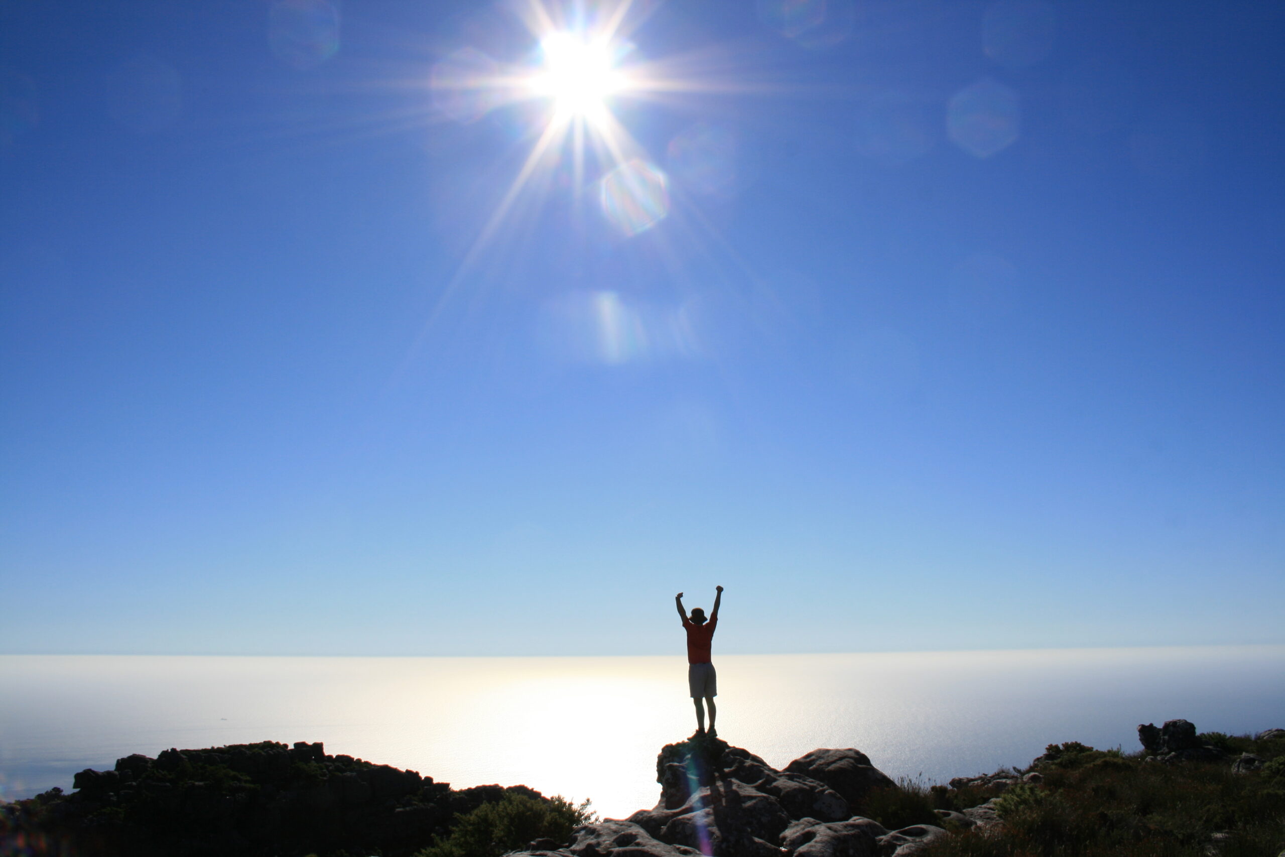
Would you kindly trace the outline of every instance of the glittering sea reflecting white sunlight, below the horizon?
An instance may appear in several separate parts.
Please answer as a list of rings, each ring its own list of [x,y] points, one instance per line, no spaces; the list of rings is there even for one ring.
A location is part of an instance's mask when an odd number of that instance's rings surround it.
[[[1285,646],[718,657],[718,732],[781,767],[856,747],[893,777],[1025,764],[1137,725],[1285,727]],[[681,657],[0,657],[0,797],[130,753],[276,740],[456,786],[526,784],[605,817],[651,807],[695,729]]]

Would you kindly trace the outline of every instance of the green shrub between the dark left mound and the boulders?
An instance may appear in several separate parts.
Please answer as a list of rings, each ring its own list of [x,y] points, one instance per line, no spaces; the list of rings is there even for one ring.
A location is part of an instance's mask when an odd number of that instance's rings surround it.
[[[565,843],[573,827],[595,818],[589,800],[577,807],[562,797],[545,800],[506,791],[497,802],[459,815],[450,835],[436,838],[416,857],[500,857],[535,839]]]

